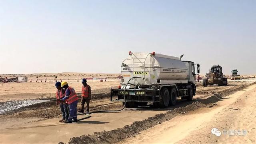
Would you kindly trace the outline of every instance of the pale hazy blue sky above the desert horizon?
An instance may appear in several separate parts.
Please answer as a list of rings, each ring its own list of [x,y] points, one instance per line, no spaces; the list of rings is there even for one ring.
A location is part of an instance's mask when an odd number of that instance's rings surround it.
[[[256,0],[0,0],[0,73],[120,73],[128,52],[256,74]]]

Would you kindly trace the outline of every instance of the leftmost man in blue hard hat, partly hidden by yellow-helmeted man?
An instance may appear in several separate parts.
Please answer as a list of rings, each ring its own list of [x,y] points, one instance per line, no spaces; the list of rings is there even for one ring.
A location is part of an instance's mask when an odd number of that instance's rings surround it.
[[[59,120],[59,122],[64,122],[64,121],[68,121],[68,105],[66,105],[65,103],[61,103],[61,102],[58,102],[58,100],[64,98],[64,93],[65,93],[65,90],[63,90],[61,88],[61,83],[60,82],[56,82],[55,83],[55,86],[57,88],[57,92],[56,92],[56,99],[57,99],[57,102],[56,104],[60,104],[60,111],[62,112],[62,119]]]

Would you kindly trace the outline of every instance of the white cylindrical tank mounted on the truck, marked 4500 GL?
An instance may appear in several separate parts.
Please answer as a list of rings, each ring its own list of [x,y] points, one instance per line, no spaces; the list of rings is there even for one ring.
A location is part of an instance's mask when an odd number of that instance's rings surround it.
[[[121,66],[124,83],[130,81],[133,84],[156,84],[159,80],[185,80],[188,76],[186,65],[178,57],[151,53],[130,53]]]

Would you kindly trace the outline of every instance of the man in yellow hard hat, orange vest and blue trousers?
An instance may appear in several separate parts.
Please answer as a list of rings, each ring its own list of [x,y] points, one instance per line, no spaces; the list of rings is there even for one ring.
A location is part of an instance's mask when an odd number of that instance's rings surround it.
[[[65,93],[64,93],[64,98],[60,99],[60,102],[66,101],[69,107],[68,121],[64,123],[78,122],[77,112],[76,112],[78,97],[76,95],[76,92],[74,88],[71,88],[70,86],[68,86],[67,82],[62,82],[61,86],[62,86],[62,89],[65,90]]]

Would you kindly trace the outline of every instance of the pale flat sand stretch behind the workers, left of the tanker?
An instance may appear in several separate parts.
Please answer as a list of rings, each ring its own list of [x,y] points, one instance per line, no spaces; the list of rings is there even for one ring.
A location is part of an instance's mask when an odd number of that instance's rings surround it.
[[[69,80],[67,80],[67,82],[69,86],[76,90],[77,93],[81,93],[81,82],[70,82]],[[106,82],[100,82],[100,80],[88,80],[88,84],[91,86],[92,90],[99,90],[102,88],[110,89],[111,86],[120,85],[120,80],[107,80]],[[0,102],[10,100],[49,98],[54,97],[55,93],[55,82],[0,83]]]

